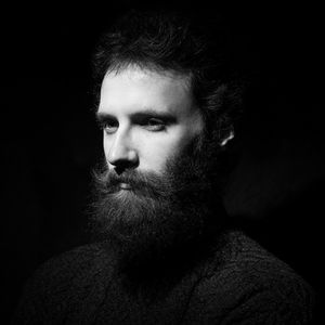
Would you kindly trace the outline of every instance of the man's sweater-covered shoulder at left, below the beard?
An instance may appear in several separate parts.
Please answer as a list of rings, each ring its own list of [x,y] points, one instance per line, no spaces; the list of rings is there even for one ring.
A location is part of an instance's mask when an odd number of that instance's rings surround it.
[[[27,281],[14,323],[30,324],[64,314],[76,299],[89,294],[109,270],[109,257],[101,244],[75,248],[44,262]]]

